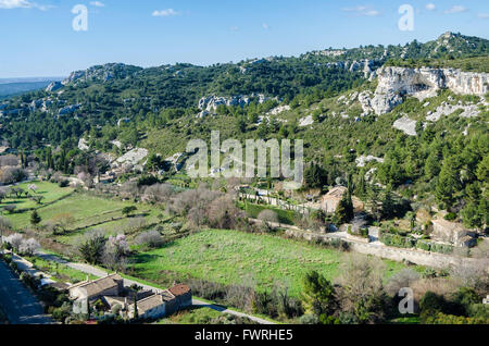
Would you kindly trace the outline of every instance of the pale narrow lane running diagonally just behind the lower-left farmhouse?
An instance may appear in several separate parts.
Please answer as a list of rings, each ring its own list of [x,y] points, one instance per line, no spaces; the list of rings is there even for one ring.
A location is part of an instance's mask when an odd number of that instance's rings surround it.
[[[78,270],[80,272],[84,272],[84,273],[87,273],[87,274],[90,274],[90,275],[93,275],[93,276],[102,277],[102,276],[106,276],[109,274],[108,272],[105,272],[103,270],[100,270],[98,268],[95,268],[92,265],[65,261],[64,259],[61,259],[61,258],[59,258],[58,256],[54,256],[54,255],[39,252],[39,254],[37,254],[37,256],[42,258],[42,259],[45,259],[45,260],[58,262],[58,263],[67,265],[70,268],[76,269],[76,270]],[[128,287],[128,286],[131,286],[134,284],[137,284],[138,286],[141,286],[143,289],[150,289],[150,291],[154,291],[154,292],[161,291],[160,288],[156,288],[154,286],[149,286],[149,285],[146,285],[146,284],[141,284],[139,282],[135,282],[133,280],[124,279],[124,286]],[[225,307],[222,307],[222,306],[218,306],[218,305],[214,305],[214,304],[210,304],[210,302],[206,302],[206,301],[203,301],[203,300],[199,300],[199,299],[195,299],[193,298],[192,299],[192,304],[196,307],[205,307],[205,308],[210,308],[210,309],[213,309],[213,310],[222,312],[222,313],[229,313],[229,314],[233,314],[233,316],[236,316],[236,317],[240,317],[240,318],[248,318],[248,319],[250,319],[250,320],[252,320],[252,321],[254,321],[256,323],[260,323],[260,324],[275,324],[274,322],[271,322],[271,321],[267,321],[267,320],[264,320],[264,319],[251,316],[251,314],[247,314],[247,313],[238,312],[238,311],[235,311],[235,310],[230,310],[230,309],[227,309]]]

